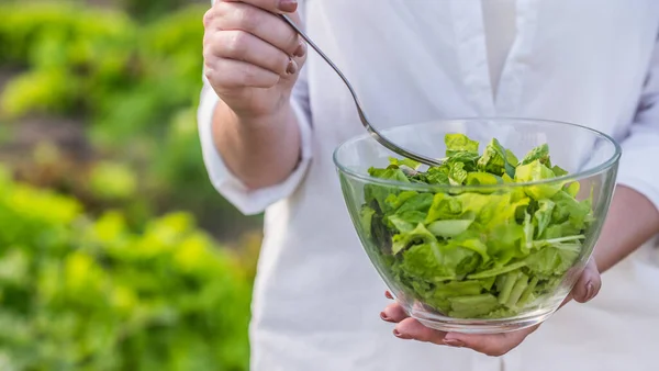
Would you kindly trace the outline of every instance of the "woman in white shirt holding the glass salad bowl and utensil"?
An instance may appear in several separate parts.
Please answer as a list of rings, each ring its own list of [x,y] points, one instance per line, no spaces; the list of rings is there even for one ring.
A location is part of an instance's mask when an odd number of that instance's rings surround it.
[[[266,211],[253,370],[656,370],[659,2],[298,1],[217,0],[204,18],[204,161],[241,211]],[[405,318],[382,296],[332,162],[362,133],[351,98],[276,13],[304,25],[381,128],[503,115],[618,139],[611,214],[572,292],[592,299],[599,269],[597,297],[507,335],[444,334]]]

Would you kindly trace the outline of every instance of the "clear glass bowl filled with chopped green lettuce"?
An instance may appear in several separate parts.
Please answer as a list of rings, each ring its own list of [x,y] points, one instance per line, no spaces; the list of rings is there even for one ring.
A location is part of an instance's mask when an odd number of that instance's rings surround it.
[[[521,119],[435,121],[382,133],[435,158],[445,157],[445,135],[455,133],[480,142],[480,153],[496,138],[520,159],[537,146],[549,146],[551,164],[568,175],[476,186],[371,177],[369,168],[387,168],[391,157],[399,157],[368,134],[347,140],[334,153],[364,248],[410,316],[431,328],[471,334],[505,333],[547,319],[569,294],[599,238],[615,188],[617,143],[588,127]],[[389,204],[379,203],[384,195],[391,196]],[[407,237],[400,238],[396,235],[404,228],[399,231],[391,215],[404,212],[406,198],[426,200],[407,207],[422,216],[432,207],[446,207],[439,203],[446,200],[458,206],[451,216],[438,213],[420,222],[423,232],[416,235],[405,227]],[[487,200],[487,206],[476,214],[468,212],[478,210],[467,206],[473,200]],[[515,216],[506,218],[510,207],[516,207]],[[460,235],[465,228],[474,233]],[[434,237],[424,235],[428,231]],[[520,231],[523,237],[518,238]]]

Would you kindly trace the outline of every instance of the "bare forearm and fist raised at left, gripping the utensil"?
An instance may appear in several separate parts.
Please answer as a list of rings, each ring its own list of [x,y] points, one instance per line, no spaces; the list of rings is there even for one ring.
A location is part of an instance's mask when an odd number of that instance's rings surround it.
[[[305,47],[273,13],[294,2],[216,1],[204,16],[205,77],[219,101],[212,144],[223,165],[247,190],[276,186],[295,169],[301,133],[291,93]],[[279,7],[279,8],[278,8]],[[292,16],[299,22],[297,13]]]

